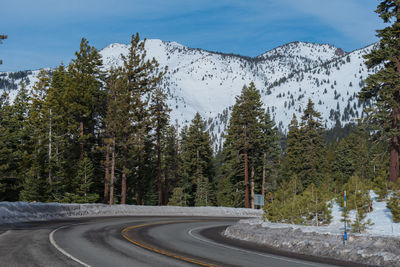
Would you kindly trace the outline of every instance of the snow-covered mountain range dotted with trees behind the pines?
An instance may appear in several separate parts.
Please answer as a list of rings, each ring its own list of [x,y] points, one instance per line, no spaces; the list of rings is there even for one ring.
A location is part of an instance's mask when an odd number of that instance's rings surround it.
[[[100,51],[104,68],[121,65],[128,45],[111,44]],[[282,131],[296,113],[301,116],[308,98],[321,112],[327,127],[336,120],[347,123],[362,116],[363,104],[356,94],[368,70],[363,55],[373,45],[345,53],[328,44],[293,42],[257,57],[209,52],[176,42],[146,41],[148,58],[168,66],[163,86],[168,90],[172,120],[180,125],[199,112],[217,138],[244,85],[253,81]],[[22,79],[32,86],[38,71],[0,73],[1,88],[13,89]]]

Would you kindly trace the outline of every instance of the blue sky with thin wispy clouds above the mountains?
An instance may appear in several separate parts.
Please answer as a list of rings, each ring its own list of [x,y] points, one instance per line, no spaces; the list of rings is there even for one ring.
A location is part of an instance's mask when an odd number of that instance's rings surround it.
[[[101,49],[143,38],[256,56],[292,41],[345,51],[377,41],[378,0],[4,0],[0,71],[68,64],[82,37]]]

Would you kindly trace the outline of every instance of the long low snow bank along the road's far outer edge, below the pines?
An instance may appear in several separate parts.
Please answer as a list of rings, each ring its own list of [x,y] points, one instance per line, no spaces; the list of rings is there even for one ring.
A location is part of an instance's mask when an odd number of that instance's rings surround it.
[[[104,204],[0,202],[0,224],[87,216],[260,217],[261,210],[225,207],[173,207]]]

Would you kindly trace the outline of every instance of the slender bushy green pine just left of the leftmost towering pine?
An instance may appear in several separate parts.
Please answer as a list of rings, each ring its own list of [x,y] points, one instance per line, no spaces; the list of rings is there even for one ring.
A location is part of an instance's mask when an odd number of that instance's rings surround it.
[[[46,79],[46,76],[43,76],[43,79]],[[64,193],[72,190],[70,186],[72,177],[75,175],[74,164],[71,162],[76,162],[77,158],[74,143],[76,123],[69,112],[68,82],[68,72],[63,65],[60,65],[53,72],[44,101],[41,100],[41,93],[39,93],[42,87],[40,84],[37,90],[35,89],[37,92],[32,92],[33,97],[38,98],[32,99],[32,103],[38,103],[32,107],[35,107],[35,112],[40,114],[39,118],[41,118],[34,123],[38,134],[35,135],[35,144],[38,146],[36,150],[43,150],[46,153],[44,160],[47,165],[46,175],[50,183],[50,194],[54,200],[62,199]],[[32,121],[34,120],[35,116],[32,112]],[[44,147],[39,149],[41,145]]]

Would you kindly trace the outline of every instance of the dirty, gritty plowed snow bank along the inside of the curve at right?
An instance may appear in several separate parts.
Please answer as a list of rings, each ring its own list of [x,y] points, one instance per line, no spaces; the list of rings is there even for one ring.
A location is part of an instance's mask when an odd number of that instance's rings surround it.
[[[241,220],[224,235],[276,249],[379,266],[400,266],[400,237],[351,235],[346,246],[341,234],[311,231],[289,224]]]

